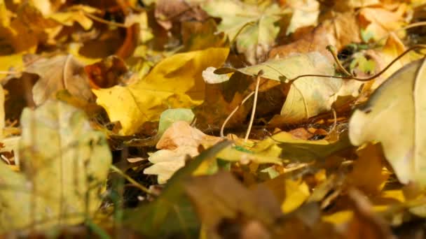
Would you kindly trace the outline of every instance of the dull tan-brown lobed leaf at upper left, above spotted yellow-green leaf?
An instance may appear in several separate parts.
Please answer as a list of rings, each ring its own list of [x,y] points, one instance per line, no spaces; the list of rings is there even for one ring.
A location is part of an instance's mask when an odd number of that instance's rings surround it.
[[[83,65],[72,55],[36,59],[25,68],[25,72],[40,76],[32,89],[36,105],[54,99],[61,89],[67,89],[69,93],[85,101],[90,101],[93,97]]]

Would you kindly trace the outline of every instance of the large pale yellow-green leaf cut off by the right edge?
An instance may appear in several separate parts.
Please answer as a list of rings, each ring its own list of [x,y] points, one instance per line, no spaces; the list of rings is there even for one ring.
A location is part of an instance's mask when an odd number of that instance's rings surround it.
[[[426,184],[425,61],[394,73],[350,118],[354,145],[379,141],[400,182]]]

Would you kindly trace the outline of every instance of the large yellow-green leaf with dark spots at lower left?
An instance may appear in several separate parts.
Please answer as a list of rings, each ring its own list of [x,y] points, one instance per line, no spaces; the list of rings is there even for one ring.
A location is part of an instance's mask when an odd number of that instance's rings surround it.
[[[104,134],[90,129],[83,111],[59,101],[24,110],[21,124],[22,173],[0,162],[0,231],[92,217],[111,164]]]

